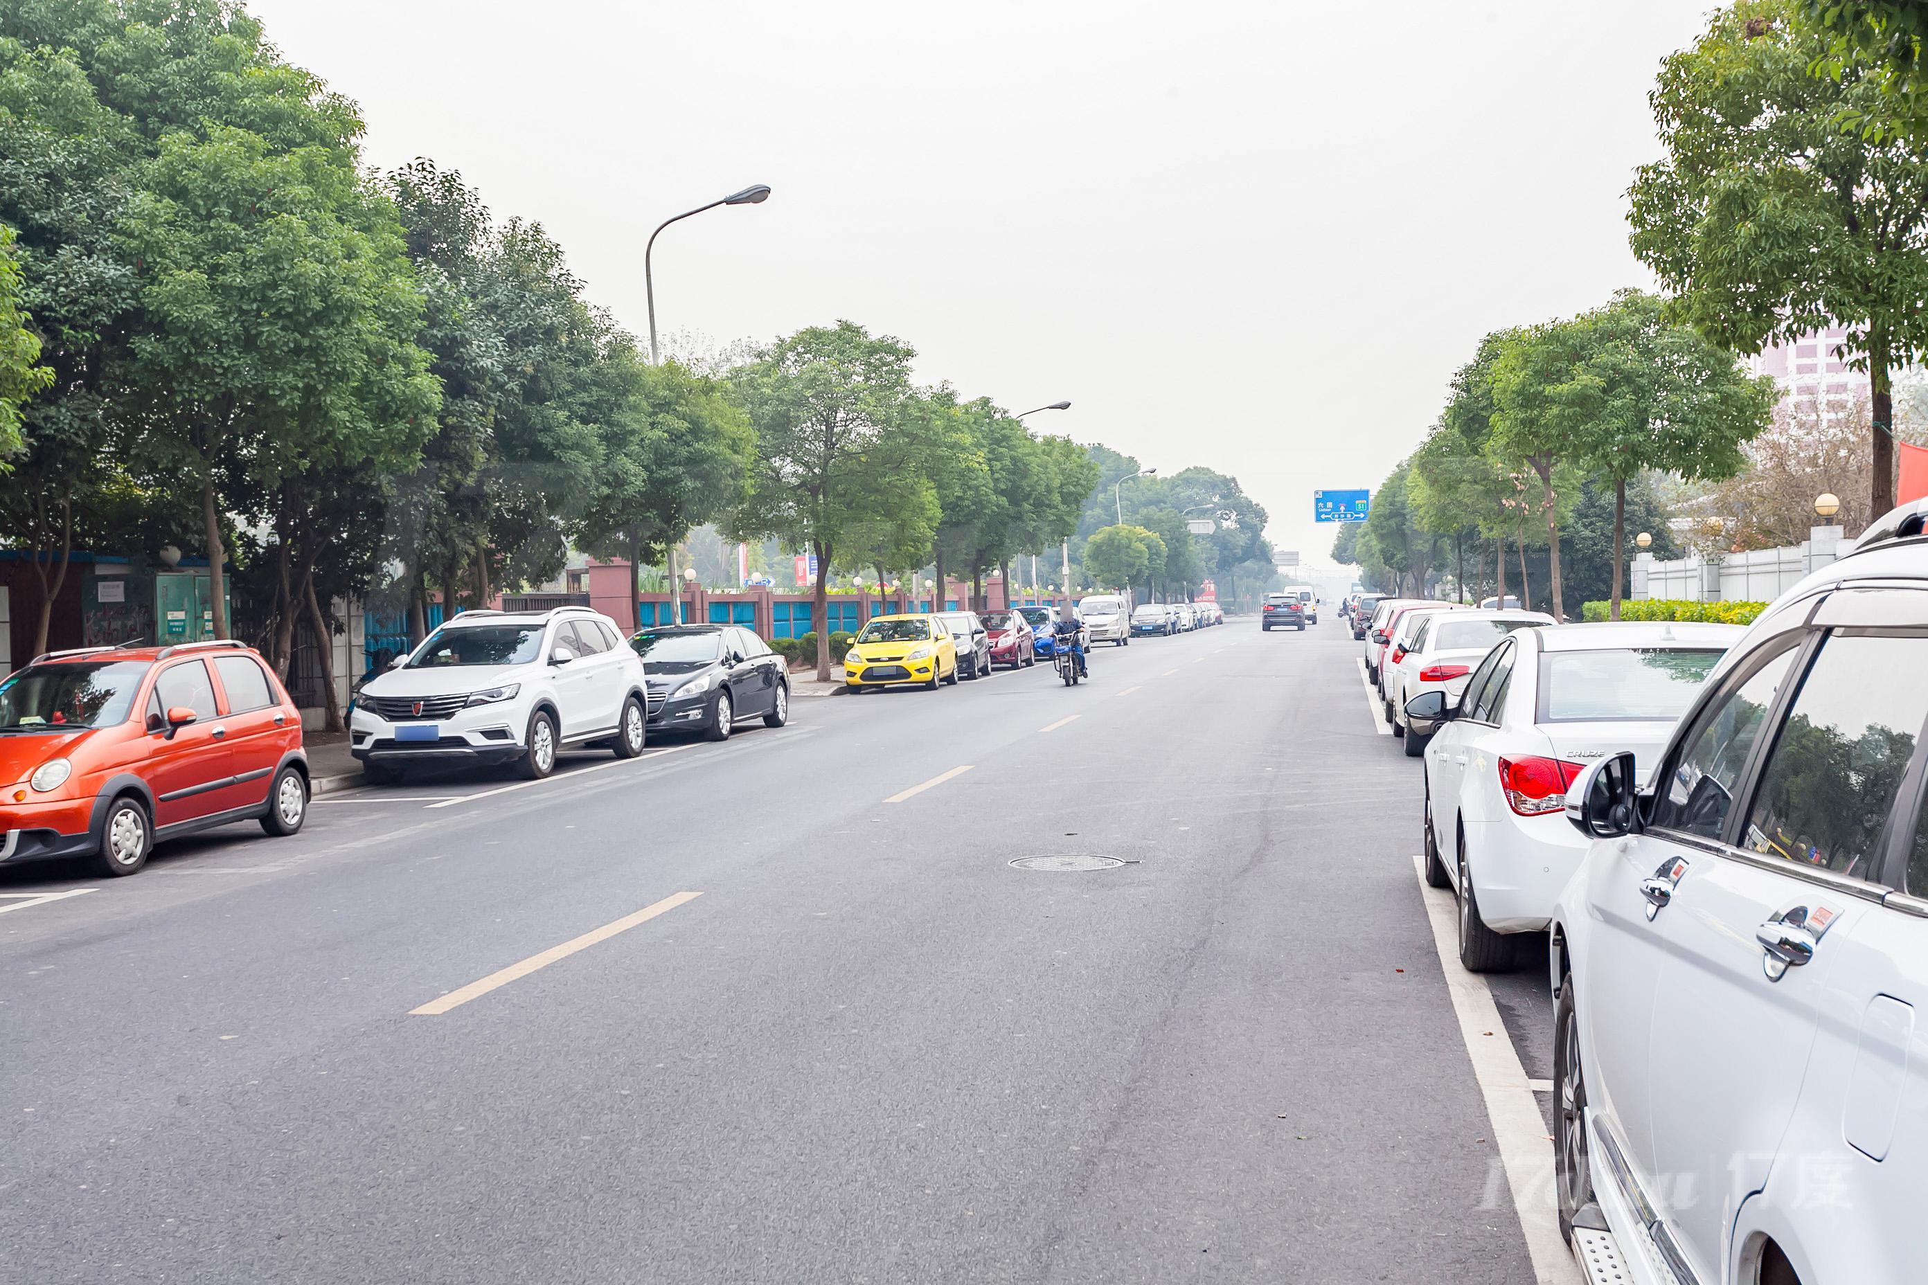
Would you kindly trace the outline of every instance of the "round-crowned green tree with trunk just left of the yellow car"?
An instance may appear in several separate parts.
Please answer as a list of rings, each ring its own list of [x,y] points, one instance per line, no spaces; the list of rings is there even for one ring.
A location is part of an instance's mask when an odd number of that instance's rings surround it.
[[[929,405],[910,380],[910,345],[854,322],[779,339],[731,374],[756,430],[750,493],[738,534],[777,536],[817,555],[816,618],[827,618],[831,559],[860,543],[927,547],[941,509],[922,472]],[[817,680],[829,682],[829,649]]]

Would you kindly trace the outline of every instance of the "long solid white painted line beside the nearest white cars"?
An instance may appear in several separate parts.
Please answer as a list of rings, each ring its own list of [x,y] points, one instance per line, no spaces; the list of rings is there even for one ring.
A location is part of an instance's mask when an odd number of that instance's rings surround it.
[[[1546,1117],[1533,1098],[1533,1087],[1544,1081],[1527,1079],[1513,1040],[1500,1025],[1500,1008],[1492,990],[1477,973],[1459,965],[1459,907],[1450,890],[1427,886],[1427,861],[1413,857],[1419,875],[1419,896],[1433,921],[1433,946],[1446,973],[1446,994],[1459,1019],[1459,1038],[1473,1062],[1473,1079],[1486,1098],[1486,1119],[1492,1141],[1500,1146],[1506,1185],[1513,1194],[1519,1231],[1533,1258],[1533,1279],[1539,1285],[1581,1285],[1573,1254],[1560,1237],[1560,1202],[1554,1187],[1554,1148],[1546,1142]]]

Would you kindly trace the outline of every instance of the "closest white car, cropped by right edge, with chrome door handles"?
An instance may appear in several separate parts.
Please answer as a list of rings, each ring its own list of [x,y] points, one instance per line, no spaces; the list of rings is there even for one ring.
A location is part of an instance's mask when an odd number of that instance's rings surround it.
[[[1891,511],[1776,599],[1650,782],[1610,751],[1567,794],[1554,1175],[1614,1279],[1928,1273],[1924,518]]]

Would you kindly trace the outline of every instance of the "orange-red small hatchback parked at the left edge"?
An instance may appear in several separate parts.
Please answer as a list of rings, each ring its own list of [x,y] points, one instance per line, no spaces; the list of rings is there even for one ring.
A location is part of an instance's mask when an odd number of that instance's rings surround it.
[[[83,647],[0,680],[0,863],[93,857],[133,875],[154,842],[308,813],[301,711],[237,642]]]

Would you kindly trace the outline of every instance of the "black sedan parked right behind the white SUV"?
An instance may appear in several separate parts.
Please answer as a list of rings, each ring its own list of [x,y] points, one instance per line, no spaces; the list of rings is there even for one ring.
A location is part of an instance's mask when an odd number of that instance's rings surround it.
[[[650,690],[650,730],[702,732],[729,740],[744,719],[765,726],[790,719],[783,657],[736,624],[671,624],[629,640]]]

